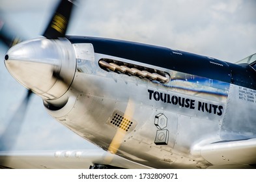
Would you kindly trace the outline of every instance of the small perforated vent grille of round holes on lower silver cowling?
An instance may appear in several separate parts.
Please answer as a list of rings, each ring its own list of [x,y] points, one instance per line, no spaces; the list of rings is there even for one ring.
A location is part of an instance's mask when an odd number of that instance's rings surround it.
[[[115,110],[107,120],[107,124],[115,129],[122,129],[123,131],[130,133],[130,131],[134,130],[136,122],[124,116],[124,113],[121,111]]]

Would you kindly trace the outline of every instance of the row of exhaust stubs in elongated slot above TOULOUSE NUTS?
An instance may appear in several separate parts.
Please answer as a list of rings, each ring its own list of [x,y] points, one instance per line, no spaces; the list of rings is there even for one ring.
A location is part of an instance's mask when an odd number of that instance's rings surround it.
[[[101,59],[98,64],[101,68],[107,71],[124,73],[126,75],[134,75],[140,78],[149,79],[151,81],[159,81],[167,83],[170,80],[169,74],[160,70],[146,68],[127,62],[121,62],[112,59]]]

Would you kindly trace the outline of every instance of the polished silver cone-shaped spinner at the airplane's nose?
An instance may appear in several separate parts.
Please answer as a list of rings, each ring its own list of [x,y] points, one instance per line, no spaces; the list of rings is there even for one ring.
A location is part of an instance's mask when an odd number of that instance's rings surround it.
[[[76,55],[66,40],[37,38],[10,48],[8,72],[43,99],[56,99],[68,90],[76,72]]]

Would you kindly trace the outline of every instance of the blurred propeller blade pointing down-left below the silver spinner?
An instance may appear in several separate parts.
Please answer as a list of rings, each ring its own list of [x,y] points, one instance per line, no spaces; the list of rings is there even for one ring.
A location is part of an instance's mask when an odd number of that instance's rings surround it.
[[[25,118],[31,94],[31,90],[28,90],[27,96],[25,96],[23,101],[20,103],[16,112],[13,113],[7,129],[5,129],[5,132],[0,136],[0,151],[10,151],[14,146]]]

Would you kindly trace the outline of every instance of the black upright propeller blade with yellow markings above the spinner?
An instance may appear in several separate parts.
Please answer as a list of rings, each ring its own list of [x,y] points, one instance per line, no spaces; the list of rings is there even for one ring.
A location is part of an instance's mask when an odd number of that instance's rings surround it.
[[[68,21],[70,19],[72,7],[73,3],[71,0],[61,0],[43,36],[48,39],[64,37],[68,27]]]

